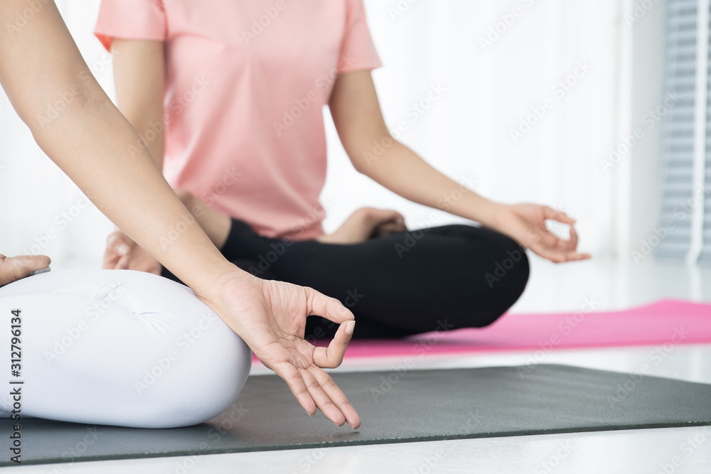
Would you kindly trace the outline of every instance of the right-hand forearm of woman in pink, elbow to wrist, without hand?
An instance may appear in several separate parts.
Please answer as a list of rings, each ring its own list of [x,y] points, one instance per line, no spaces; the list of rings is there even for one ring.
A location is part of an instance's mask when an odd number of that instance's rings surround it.
[[[493,225],[493,215],[501,208],[500,204],[483,198],[466,183],[456,183],[399,141],[389,136],[385,138],[392,140],[392,146],[387,147],[380,156],[371,153],[370,159],[358,166],[358,171],[415,203],[451,212],[483,225]]]

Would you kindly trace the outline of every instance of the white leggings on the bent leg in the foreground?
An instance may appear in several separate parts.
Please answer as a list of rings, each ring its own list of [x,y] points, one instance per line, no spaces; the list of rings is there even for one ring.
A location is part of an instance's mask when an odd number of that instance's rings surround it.
[[[11,348],[18,329],[21,357]],[[190,289],[139,271],[50,271],[2,286],[0,331],[5,417],[19,403],[22,416],[190,426],[235,402],[252,363],[244,341]]]

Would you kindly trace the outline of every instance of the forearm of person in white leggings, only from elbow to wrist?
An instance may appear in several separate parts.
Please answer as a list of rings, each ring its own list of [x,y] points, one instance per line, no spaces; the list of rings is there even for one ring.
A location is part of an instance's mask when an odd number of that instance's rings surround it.
[[[55,130],[36,133],[38,144],[112,222],[200,292],[215,275],[235,268],[173,193],[151,156],[128,151],[127,143],[137,134],[106,100],[85,112],[92,123],[81,114],[67,117]]]

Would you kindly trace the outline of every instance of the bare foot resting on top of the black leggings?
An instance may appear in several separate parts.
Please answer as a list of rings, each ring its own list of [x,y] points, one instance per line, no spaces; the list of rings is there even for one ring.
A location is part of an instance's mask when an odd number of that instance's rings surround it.
[[[321,235],[316,240],[324,244],[358,244],[373,237],[385,237],[407,232],[405,217],[387,209],[360,208],[343,221],[333,234]]]

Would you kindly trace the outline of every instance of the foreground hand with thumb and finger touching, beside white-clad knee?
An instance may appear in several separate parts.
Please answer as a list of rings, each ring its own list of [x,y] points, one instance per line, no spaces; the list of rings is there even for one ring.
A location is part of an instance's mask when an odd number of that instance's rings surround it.
[[[353,313],[318,291],[282,281],[267,281],[235,271],[198,295],[228,323],[269,369],[282,377],[309,415],[320,409],[338,426],[360,426],[360,417],[324,368],[341,365],[353,335]],[[328,348],[304,340],[306,316],[341,324]],[[345,324],[344,324],[345,323]]]

